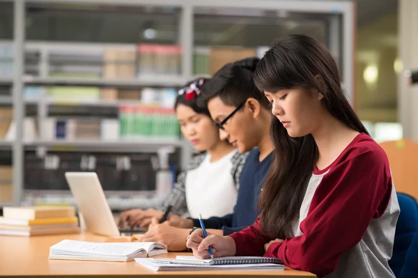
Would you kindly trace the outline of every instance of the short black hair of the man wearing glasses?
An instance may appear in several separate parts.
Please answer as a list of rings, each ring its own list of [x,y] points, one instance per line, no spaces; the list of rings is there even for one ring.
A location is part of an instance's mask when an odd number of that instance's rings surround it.
[[[210,99],[217,96],[230,106],[239,106],[249,97],[253,97],[262,106],[270,109],[268,100],[260,94],[253,81],[254,70],[259,61],[259,58],[251,57],[224,65],[212,80],[203,84],[199,106],[206,106]]]

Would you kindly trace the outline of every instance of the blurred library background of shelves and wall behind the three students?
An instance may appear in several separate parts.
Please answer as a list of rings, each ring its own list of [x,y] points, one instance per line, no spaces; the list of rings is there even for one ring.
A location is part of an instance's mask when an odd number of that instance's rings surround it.
[[[0,207],[74,204],[64,172],[98,173],[114,211],[155,206],[193,155],[177,90],[275,39],[332,52],[378,142],[418,139],[415,0],[0,0]],[[417,53],[414,53],[417,52]],[[415,94],[415,95],[414,95]],[[158,193],[158,194],[157,194]]]

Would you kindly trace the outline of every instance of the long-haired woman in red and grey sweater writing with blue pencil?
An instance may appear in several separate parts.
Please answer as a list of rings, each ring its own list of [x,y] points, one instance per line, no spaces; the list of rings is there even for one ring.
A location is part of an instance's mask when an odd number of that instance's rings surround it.
[[[254,83],[275,116],[261,215],[230,236],[196,230],[187,247],[199,258],[208,246],[215,257],[277,257],[320,277],[394,277],[399,206],[389,163],[344,96],[330,52],[288,36],[258,63]]]

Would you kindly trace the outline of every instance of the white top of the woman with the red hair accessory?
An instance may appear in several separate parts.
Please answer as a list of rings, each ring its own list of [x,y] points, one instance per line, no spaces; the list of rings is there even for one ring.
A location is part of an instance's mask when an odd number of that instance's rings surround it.
[[[233,213],[238,196],[231,174],[235,152],[214,163],[210,162],[210,154],[206,154],[199,167],[187,172],[186,202],[191,218],[198,218],[199,213],[203,219]]]

